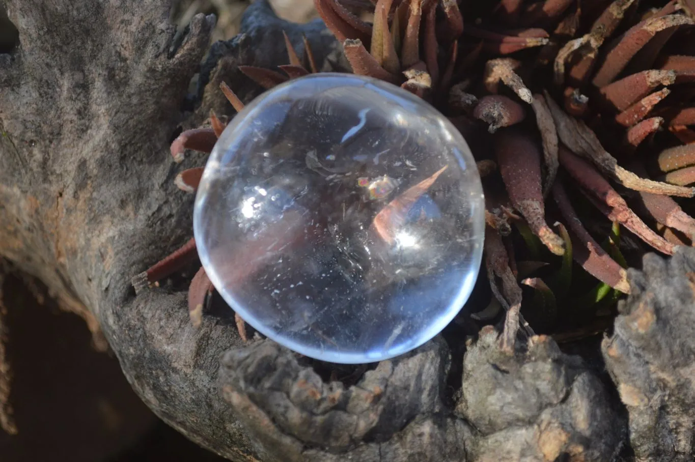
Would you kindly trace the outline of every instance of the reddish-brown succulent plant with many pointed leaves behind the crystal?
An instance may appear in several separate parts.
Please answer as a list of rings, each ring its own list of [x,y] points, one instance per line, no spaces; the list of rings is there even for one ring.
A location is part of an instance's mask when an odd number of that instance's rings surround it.
[[[616,300],[630,292],[628,265],[649,249],[671,255],[678,245],[692,245],[692,3],[315,0],[315,6],[355,74],[422,97],[471,145],[484,176],[485,265],[495,297],[477,319],[507,310],[506,349],[520,324],[528,335],[554,333],[559,340],[600,331],[612,322]],[[286,64],[240,71],[265,89],[318,72],[306,41],[301,57],[287,35],[285,41]],[[229,87],[222,90],[235,110],[243,108]],[[214,113],[210,122],[179,136],[175,159],[185,149],[211,151],[224,124]],[[181,172],[177,184],[195,191],[201,174],[202,167]],[[191,258],[193,240],[141,274],[136,287]],[[201,270],[189,292],[194,320],[212,290]],[[238,317],[237,324],[245,338]]]

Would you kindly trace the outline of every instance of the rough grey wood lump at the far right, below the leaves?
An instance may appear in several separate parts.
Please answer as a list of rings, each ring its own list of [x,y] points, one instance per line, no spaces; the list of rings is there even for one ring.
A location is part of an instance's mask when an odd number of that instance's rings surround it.
[[[639,461],[692,461],[695,249],[648,254],[628,279],[632,292],[602,349],[630,415],[630,445]]]

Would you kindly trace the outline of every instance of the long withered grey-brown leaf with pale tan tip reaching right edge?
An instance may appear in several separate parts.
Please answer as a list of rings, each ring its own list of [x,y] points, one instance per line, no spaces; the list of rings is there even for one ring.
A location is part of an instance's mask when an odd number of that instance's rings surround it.
[[[651,181],[628,172],[628,170],[618,165],[618,161],[603,149],[596,134],[589,129],[587,124],[566,115],[547,91],[545,95],[550,113],[553,114],[553,119],[555,120],[559,140],[574,154],[591,160],[603,174],[626,188],[637,191],[682,197],[693,197],[695,195],[694,188],[682,188],[681,186]]]

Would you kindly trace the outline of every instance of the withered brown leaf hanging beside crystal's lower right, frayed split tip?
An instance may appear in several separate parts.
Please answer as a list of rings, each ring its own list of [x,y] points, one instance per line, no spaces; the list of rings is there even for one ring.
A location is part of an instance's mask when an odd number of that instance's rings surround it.
[[[525,322],[521,322],[521,287],[516,283],[516,277],[509,267],[509,256],[497,231],[489,226],[485,228],[485,266],[490,281],[493,295],[507,310],[505,329],[502,333],[502,349],[514,353],[516,333],[520,324],[523,324],[527,333],[532,333]],[[496,278],[502,281],[502,288],[497,284]]]

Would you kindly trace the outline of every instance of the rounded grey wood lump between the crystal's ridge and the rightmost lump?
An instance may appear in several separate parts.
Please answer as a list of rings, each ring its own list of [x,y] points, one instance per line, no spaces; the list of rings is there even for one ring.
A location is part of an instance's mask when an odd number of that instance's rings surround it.
[[[534,336],[515,354],[484,327],[464,356],[456,415],[481,438],[476,461],[611,461],[625,422],[579,356]]]

